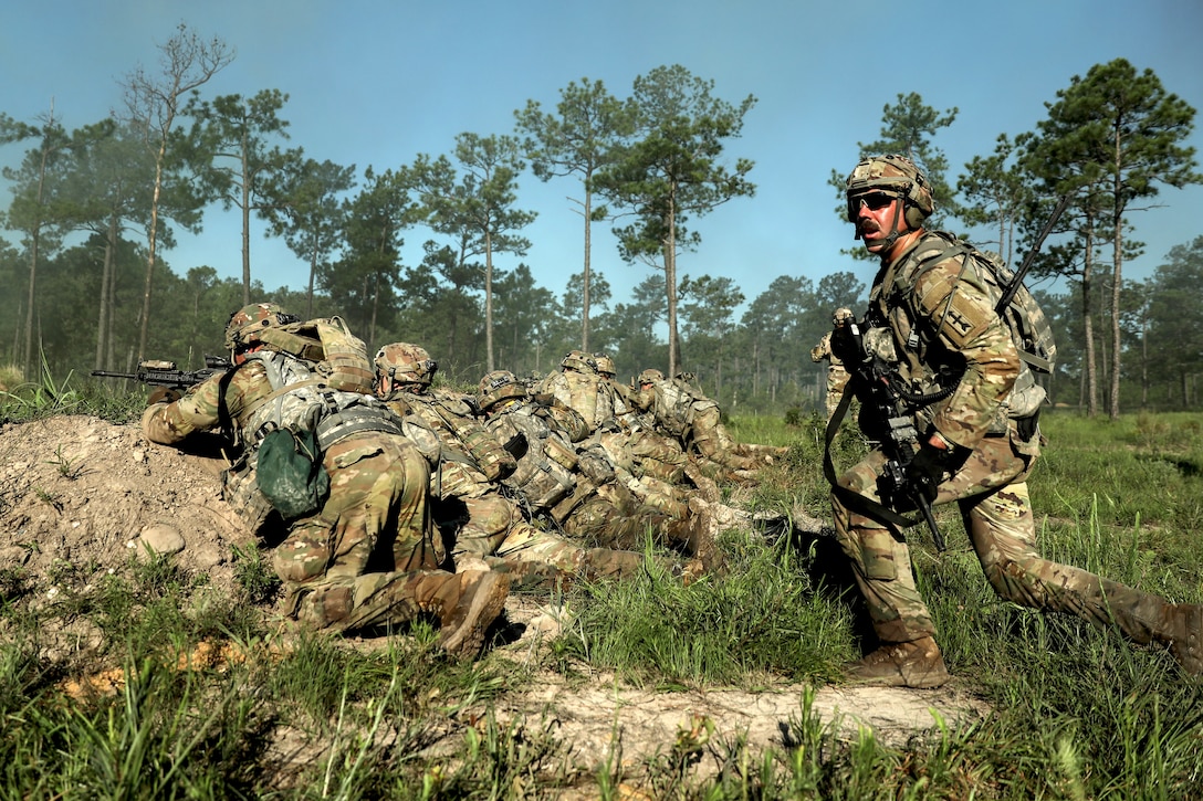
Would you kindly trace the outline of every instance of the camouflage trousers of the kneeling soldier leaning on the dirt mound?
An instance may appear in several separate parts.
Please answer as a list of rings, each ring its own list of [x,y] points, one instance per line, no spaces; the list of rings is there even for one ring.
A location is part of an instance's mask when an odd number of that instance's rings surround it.
[[[440,562],[426,459],[401,437],[366,432],[334,443],[322,461],[330,497],[273,553],[290,613],[334,630],[411,621],[416,583]]]

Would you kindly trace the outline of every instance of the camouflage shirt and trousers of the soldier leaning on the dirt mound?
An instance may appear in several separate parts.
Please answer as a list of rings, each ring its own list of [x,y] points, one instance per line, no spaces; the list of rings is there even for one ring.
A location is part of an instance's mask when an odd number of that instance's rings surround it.
[[[269,304],[250,312],[272,313]],[[219,429],[229,420],[243,456],[224,475],[225,494],[253,526],[263,517],[262,496],[254,489],[256,434],[268,402],[283,397],[272,387],[271,360],[292,358],[254,350],[236,351],[238,366],[231,372],[178,399],[153,403],[142,416],[147,438],[165,445]],[[367,402],[362,408],[372,409],[374,399],[361,397]],[[474,654],[484,629],[500,612],[506,587],[494,578],[480,583],[480,574],[437,570],[426,463],[397,433],[391,415],[383,407],[375,409],[375,415],[362,414],[342,434],[318,427],[328,498],[313,515],[290,522],[273,552],[273,565],[289,591],[290,613],[315,628],[344,631],[405,623],[432,612],[443,624],[443,646]]]

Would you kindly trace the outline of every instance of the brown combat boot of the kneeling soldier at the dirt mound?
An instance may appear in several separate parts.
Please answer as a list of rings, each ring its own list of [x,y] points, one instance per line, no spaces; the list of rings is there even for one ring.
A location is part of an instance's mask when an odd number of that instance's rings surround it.
[[[480,653],[485,631],[502,613],[508,576],[492,570],[431,574],[419,583],[417,604],[439,618],[439,647],[466,659]]]

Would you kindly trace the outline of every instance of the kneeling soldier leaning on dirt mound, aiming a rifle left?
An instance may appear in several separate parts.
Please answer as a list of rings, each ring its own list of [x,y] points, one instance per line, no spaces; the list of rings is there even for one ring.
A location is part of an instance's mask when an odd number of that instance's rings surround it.
[[[235,367],[182,397],[158,390],[142,415],[143,432],[154,443],[183,445],[197,432],[227,427],[241,457],[223,476],[224,494],[256,528],[268,511],[257,489],[261,443],[284,426],[315,432],[328,497],[312,514],[288,521],[286,539],[273,552],[289,613],[333,631],[433,613],[443,648],[474,655],[502,611],[508,580],[437,569],[425,461],[366,381],[352,391],[318,380],[313,354],[324,352],[321,342],[298,337],[302,346],[295,350],[308,358],[275,344],[297,338],[289,331],[296,322],[274,303],[235,312],[226,326]],[[366,355],[361,362],[369,376]],[[322,407],[326,411],[314,414]],[[386,569],[369,571],[369,564]]]

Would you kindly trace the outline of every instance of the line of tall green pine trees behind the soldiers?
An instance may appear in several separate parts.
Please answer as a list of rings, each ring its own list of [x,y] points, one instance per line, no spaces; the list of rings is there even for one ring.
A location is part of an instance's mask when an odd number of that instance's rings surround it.
[[[149,357],[196,367],[220,351],[231,310],[267,298],[338,314],[373,346],[421,343],[454,380],[546,372],[582,349],[610,354],[626,375],[688,370],[728,407],[770,409],[818,400],[824,368],[810,349],[835,308],[864,305],[851,272],[781,275],[753,298],[731,279],[678,273],[677,256],[703,244],[697,220],[755,191],[754,162],[728,154],[755,97],[719,99],[683,66],[636,77],[627,97],[582,78],[553,108],[528,101],[512,131],[464,132],[448,154],[358,172],[290,147],[278,90],[205,96],[233,59],[221,40],[180,25],[159,51],[158,70],[125,76],[124,108],[109,118],[67,130],[53,108],[32,121],[0,114],[0,143],[25,148],[4,171],[13,236],[0,242],[11,287],[0,361],[25,375],[128,372]],[[1195,109],[1124,59],[1074,76],[1045,108],[1033,131],[1000,134],[955,179],[936,140],[958,109],[918,94],[885,106],[879,137],[858,148],[912,158],[931,178],[931,225],[982,233],[974,242],[1011,263],[1068,196],[1030,273],[1066,287],[1039,293],[1060,345],[1054,400],[1113,416],[1132,403],[1191,405],[1203,355],[1181,345],[1203,337],[1203,321],[1183,296],[1203,269],[1203,239],[1174,248],[1146,281],[1122,266],[1143,249],[1134,212],[1161,188],[1203,180],[1185,144]],[[537,214],[518,206],[528,172],[576,188],[581,268],[555,291],[521,263]],[[842,180],[832,170],[841,216]],[[241,278],[208,266],[177,274],[161,253],[214,203],[241,214]],[[303,290],[254,277],[255,219],[308,265]],[[591,267],[594,224],[611,226],[626,261],[654,267],[626,302]],[[416,265],[401,257],[407,233],[428,237]],[[499,255],[517,267],[500,268]]]

